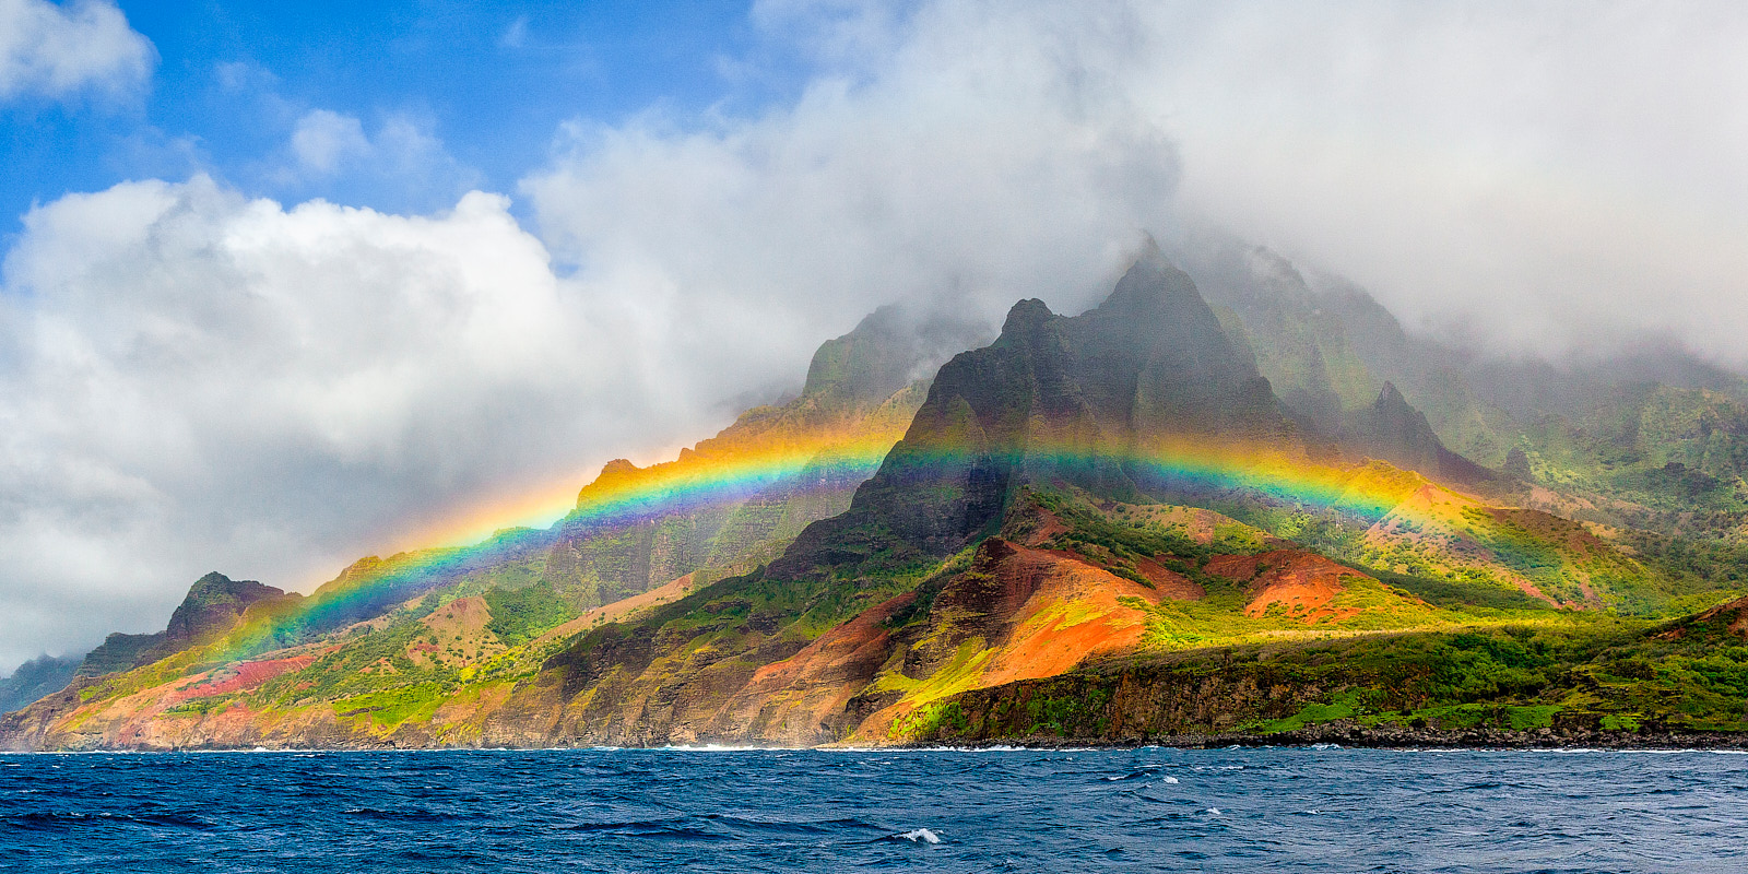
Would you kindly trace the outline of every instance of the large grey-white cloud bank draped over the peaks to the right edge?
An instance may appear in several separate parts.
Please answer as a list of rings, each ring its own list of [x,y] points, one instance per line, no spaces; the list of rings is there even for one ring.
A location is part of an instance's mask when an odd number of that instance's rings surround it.
[[[822,65],[795,105],[575,124],[524,180],[556,252],[636,264],[676,318],[947,287],[1073,308],[1126,234],[1189,220],[1498,350],[1671,334],[1748,365],[1741,3],[760,0],[753,21]]]

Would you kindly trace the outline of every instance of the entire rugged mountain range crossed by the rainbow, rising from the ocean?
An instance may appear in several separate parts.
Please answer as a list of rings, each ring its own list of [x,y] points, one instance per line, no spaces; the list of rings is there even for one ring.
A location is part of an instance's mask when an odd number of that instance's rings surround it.
[[[1467,458],[1397,388],[1428,383],[1377,378],[1314,295],[1239,290],[1271,315],[1150,248],[1099,306],[1021,301],[932,378],[942,332],[876,313],[794,400],[608,465],[549,530],[117,645],[142,656],[0,718],[0,743],[1748,729],[1748,650],[1713,610],[1739,593],[1689,540],[1563,514],[1587,498],[1547,456]],[[1722,470],[1669,428],[1654,449]],[[1671,689],[1692,692],[1671,710]]]

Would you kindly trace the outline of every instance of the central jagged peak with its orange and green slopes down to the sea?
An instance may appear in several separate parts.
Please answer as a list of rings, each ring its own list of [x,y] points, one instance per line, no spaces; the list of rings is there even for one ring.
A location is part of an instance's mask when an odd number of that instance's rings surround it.
[[[995,344],[942,367],[848,512],[759,573],[554,657],[535,687],[566,703],[559,736],[891,739],[944,696],[1094,657],[1589,607],[1524,584],[1502,556],[1557,579],[1603,563],[1619,573],[1598,598],[1650,586],[1606,544],[1301,434],[1211,322],[1157,262],[1073,320],[1021,302]],[[1073,510],[1038,509],[1051,502]],[[1246,533],[1245,547],[1152,526],[1192,512]],[[1267,558],[1232,561],[1253,552]],[[1369,558],[1395,559],[1379,572],[1391,584],[1332,561]]]

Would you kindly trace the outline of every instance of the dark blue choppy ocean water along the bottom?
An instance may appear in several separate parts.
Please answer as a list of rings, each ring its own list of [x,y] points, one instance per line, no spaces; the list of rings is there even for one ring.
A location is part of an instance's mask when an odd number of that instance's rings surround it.
[[[0,871],[1748,871],[1711,752],[0,755]]]

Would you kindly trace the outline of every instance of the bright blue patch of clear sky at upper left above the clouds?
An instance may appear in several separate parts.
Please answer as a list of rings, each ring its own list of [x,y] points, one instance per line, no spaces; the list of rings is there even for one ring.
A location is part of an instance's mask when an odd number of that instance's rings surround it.
[[[430,212],[470,187],[512,192],[561,122],[757,112],[802,75],[746,2],[119,7],[156,51],[147,82],[0,105],[7,231],[70,191],[196,171],[253,196]],[[285,143],[316,110],[358,119],[367,140],[404,121],[444,154],[395,171],[288,173]]]

